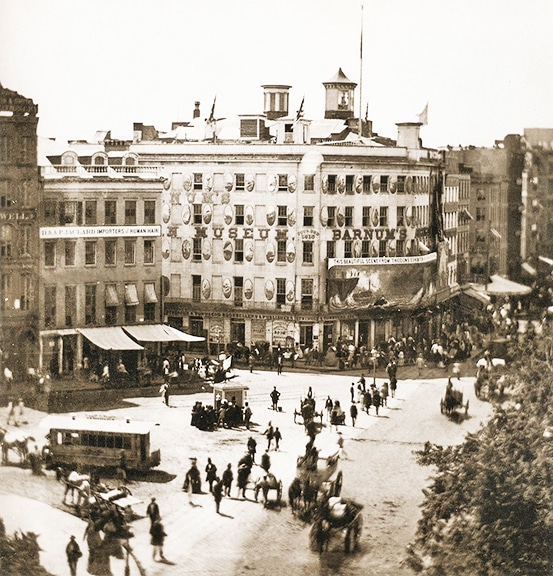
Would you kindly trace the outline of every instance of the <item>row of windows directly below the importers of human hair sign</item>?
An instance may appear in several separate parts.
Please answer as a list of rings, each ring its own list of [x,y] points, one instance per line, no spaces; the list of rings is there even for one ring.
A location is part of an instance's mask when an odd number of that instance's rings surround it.
[[[125,265],[138,264],[136,259],[136,246],[138,240],[135,238],[125,238],[119,240],[103,239],[103,240],[85,240],[84,241],[84,254],[81,258],[77,258],[77,240],[65,240],[63,243],[63,265],[76,266],[78,260],[83,260],[85,266],[96,266],[98,248],[100,242],[104,245],[104,266],[115,266],[121,258]],[[121,254],[121,244],[122,251]],[[46,240],[44,242],[44,265],[47,267],[54,267],[57,264],[57,250],[59,246],[58,240]],[[119,246],[119,250],[118,250]],[[143,264],[155,264],[155,240],[143,240]]]

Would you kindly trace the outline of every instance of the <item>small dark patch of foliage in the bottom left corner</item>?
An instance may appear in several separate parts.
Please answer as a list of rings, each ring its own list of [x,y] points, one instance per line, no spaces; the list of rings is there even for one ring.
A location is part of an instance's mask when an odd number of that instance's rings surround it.
[[[52,576],[40,565],[40,546],[34,532],[6,533],[0,518],[0,574],[2,576]]]

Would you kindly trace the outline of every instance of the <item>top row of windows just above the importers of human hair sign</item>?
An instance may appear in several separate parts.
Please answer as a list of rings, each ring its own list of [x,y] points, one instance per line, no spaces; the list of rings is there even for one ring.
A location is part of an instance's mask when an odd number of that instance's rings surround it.
[[[119,207],[119,204],[122,206]],[[137,200],[46,200],[44,203],[44,221],[49,226],[96,226],[125,224],[133,226],[141,219],[143,224],[156,224],[156,201],[144,200],[142,213],[138,211]],[[120,211],[124,210],[124,218]],[[139,218],[141,216],[141,218]]]

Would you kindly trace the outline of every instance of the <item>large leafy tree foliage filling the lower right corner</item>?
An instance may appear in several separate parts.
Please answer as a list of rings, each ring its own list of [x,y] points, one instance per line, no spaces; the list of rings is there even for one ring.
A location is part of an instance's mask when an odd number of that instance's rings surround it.
[[[459,446],[427,443],[415,551],[429,576],[553,574],[553,330],[517,343],[507,397]]]

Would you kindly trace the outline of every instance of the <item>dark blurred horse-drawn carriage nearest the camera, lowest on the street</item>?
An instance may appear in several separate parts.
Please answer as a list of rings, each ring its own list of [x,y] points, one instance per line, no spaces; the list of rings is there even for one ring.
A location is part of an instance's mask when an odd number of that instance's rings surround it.
[[[332,536],[344,534],[346,554],[357,548],[363,528],[362,504],[331,496],[325,498],[309,531],[309,546],[319,554],[328,548]]]

